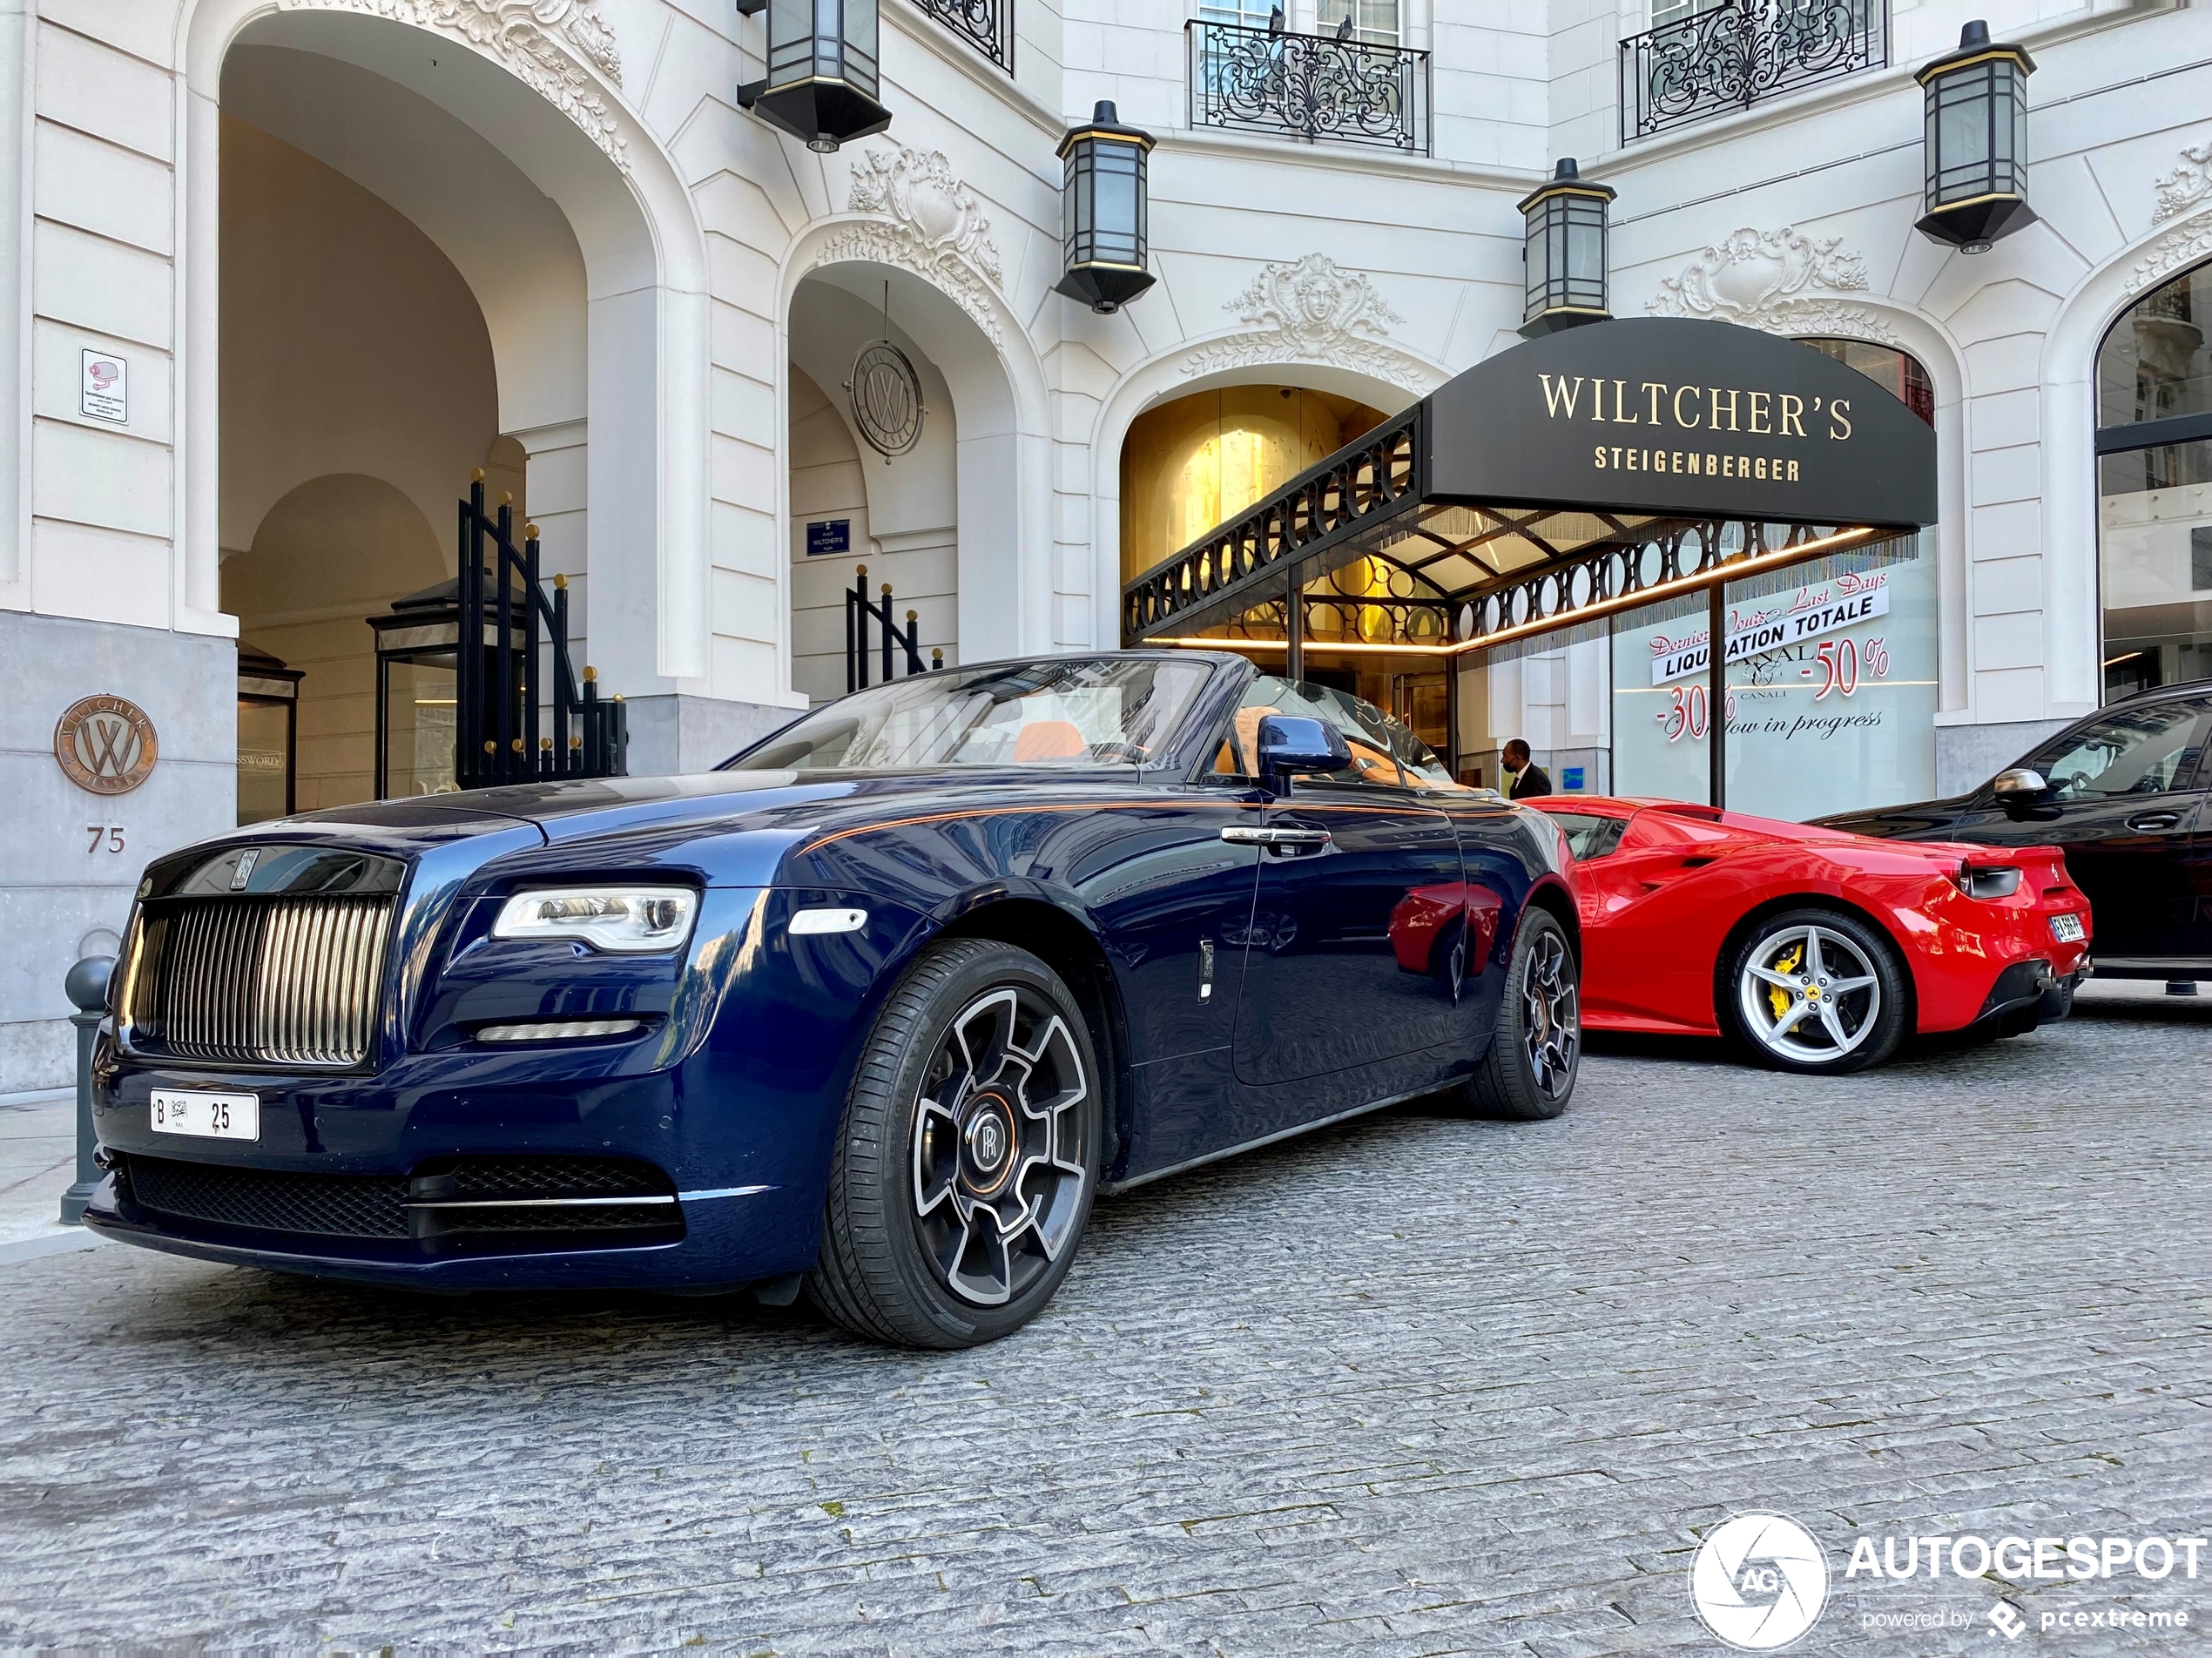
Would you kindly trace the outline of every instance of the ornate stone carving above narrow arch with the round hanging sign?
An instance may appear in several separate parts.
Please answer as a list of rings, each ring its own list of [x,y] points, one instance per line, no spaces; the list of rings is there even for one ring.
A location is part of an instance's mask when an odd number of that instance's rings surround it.
[[[836,230],[814,254],[816,265],[911,270],[949,294],[993,347],[1004,347],[991,305],[991,290],[1004,281],[991,221],[942,150],[865,150],[852,168],[845,206],[874,217]]]

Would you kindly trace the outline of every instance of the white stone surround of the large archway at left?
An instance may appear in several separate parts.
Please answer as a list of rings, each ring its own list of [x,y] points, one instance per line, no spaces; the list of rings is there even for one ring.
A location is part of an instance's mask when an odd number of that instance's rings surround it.
[[[467,9],[418,0],[197,0],[186,9],[179,24],[188,104],[179,166],[184,429],[215,433],[219,418],[210,203],[219,199],[219,106],[230,49],[338,60],[436,106],[449,130],[471,133],[566,221],[582,263],[582,329],[551,321],[562,296],[542,285],[531,292],[529,261],[489,259],[480,221],[456,201],[431,199],[438,177],[394,166],[361,181],[405,195],[405,181],[414,179],[411,206],[422,214],[416,223],[471,281],[487,325],[495,327],[502,422],[509,411],[518,422],[535,422],[511,431],[533,449],[533,460],[566,451],[577,528],[584,515],[599,524],[588,606],[606,679],[633,696],[672,692],[677,679],[708,672],[712,615],[706,239],[681,175],[611,80],[619,57],[593,7],[571,9],[562,24],[520,24],[531,40],[502,27],[476,42],[462,33],[469,20]],[[372,170],[358,146],[345,159]],[[549,234],[535,241],[544,245]],[[555,259],[551,270],[560,265]],[[542,358],[524,367],[531,340],[542,345]],[[577,393],[582,413],[564,418]],[[215,447],[190,440],[179,447],[186,449],[188,595],[195,608],[212,610]]]

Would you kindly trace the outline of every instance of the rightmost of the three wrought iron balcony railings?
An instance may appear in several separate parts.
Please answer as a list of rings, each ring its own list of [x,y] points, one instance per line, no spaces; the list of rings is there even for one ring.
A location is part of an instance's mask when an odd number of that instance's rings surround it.
[[[1621,42],[1621,144],[1887,62],[1887,0],[1721,0]]]

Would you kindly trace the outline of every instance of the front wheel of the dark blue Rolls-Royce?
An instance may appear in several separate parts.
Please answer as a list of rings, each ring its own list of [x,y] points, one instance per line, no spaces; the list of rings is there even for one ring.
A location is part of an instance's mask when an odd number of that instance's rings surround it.
[[[896,1346],[1018,1331],[1075,1260],[1102,1121],[1097,1052],[1060,975],[993,940],[933,944],[854,1066],[807,1298]]]

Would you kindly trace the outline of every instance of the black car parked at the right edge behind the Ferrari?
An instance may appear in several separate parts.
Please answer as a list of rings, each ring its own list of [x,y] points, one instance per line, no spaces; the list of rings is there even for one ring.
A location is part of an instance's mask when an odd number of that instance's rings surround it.
[[[2159,685],[2046,738],[1973,794],[1820,818],[1893,840],[2062,847],[2088,893],[2097,973],[2212,977],[2212,681]]]

